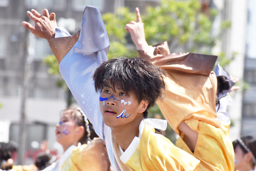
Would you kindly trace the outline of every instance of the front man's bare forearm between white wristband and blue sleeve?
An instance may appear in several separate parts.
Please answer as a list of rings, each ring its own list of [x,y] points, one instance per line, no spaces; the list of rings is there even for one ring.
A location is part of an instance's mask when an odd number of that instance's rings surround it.
[[[79,35],[80,30],[72,36],[52,38],[48,40],[49,46],[54,56],[56,57],[58,64],[60,64],[64,56],[69,52],[70,49],[72,49],[72,47],[78,41]]]

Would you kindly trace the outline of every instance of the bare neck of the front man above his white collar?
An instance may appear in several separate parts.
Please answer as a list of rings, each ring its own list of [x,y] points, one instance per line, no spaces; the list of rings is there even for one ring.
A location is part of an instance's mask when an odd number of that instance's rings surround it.
[[[139,137],[139,125],[142,120],[143,115],[126,125],[111,128],[117,144],[123,149],[123,151],[129,147],[134,137]]]

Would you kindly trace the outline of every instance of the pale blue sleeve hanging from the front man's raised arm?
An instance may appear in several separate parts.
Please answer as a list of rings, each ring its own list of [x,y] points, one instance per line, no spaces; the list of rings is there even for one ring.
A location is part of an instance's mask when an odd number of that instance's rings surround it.
[[[91,75],[102,61],[108,60],[106,53],[109,48],[109,39],[97,8],[86,7],[81,25],[81,30],[71,37],[55,38],[53,41],[70,40],[65,44],[68,52],[60,50],[60,53],[67,53],[60,62],[60,73],[76,102],[93,124],[95,132],[99,137],[104,138],[104,123],[99,106],[99,94],[95,92]],[[95,29],[97,33],[95,33]],[[74,45],[69,43],[74,43]],[[59,46],[61,48],[64,43],[59,44]],[[52,46],[51,48],[58,49],[56,47]]]

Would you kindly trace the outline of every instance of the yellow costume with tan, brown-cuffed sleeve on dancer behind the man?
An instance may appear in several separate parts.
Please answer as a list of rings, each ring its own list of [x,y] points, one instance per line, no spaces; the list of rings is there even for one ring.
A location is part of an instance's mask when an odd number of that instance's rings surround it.
[[[198,171],[233,171],[234,149],[229,125],[218,121],[215,110],[217,78],[211,70],[217,57],[170,54],[167,42],[154,46],[153,53],[140,50],[138,53],[166,73],[166,98],[157,104],[170,126],[180,135],[176,146],[201,161]],[[182,121],[199,134],[193,153],[178,130]]]

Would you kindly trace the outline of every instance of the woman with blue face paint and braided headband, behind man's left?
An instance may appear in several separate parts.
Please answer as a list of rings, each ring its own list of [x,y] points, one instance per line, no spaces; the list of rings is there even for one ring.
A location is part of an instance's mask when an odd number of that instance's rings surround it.
[[[95,138],[98,136],[93,125],[82,110],[63,110],[55,133],[64,153],[44,171],[109,171],[110,162],[105,141]]]

